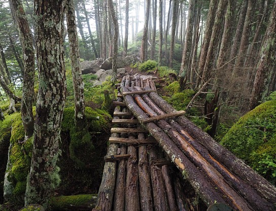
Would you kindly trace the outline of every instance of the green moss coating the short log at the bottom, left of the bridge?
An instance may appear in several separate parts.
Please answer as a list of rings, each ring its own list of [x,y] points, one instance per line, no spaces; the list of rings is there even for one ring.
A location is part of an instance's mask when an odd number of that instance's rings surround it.
[[[96,198],[97,194],[52,197],[50,200],[50,206],[53,210],[59,211],[64,210],[64,207],[68,204],[79,206],[89,203],[92,199],[95,200]]]

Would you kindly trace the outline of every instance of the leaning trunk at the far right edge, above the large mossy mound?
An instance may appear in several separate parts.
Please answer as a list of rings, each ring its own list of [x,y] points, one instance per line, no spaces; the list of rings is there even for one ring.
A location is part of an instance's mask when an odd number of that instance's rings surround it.
[[[259,101],[269,94],[269,84],[272,80],[276,66],[276,1],[270,15],[266,35],[261,47],[261,59],[258,64],[250,98],[250,109],[254,109]]]

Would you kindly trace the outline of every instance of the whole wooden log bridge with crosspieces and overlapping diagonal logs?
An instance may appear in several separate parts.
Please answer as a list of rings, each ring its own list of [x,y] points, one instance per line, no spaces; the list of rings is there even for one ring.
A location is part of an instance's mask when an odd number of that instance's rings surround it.
[[[124,76],[114,105],[94,210],[276,210],[276,188],[172,108],[151,78]]]

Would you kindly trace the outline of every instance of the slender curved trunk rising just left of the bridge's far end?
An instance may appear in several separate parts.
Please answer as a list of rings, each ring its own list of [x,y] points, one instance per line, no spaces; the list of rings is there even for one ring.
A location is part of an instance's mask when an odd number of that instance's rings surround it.
[[[113,35],[113,55],[112,55],[112,83],[115,84],[117,80],[117,57],[118,57],[118,37],[119,37],[119,25],[116,12],[113,6],[112,0],[108,0],[108,8],[112,17],[114,25],[114,35]]]

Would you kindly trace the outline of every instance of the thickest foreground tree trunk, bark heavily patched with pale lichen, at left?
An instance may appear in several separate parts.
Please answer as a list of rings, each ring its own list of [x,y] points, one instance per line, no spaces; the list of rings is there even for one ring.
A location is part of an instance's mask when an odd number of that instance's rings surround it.
[[[64,0],[34,1],[40,85],[25,204],[39,203],[46,210],[53,189],[60,181],[56,162],[66,93],[63,58],[65,3]]]

